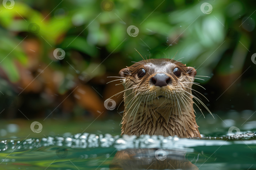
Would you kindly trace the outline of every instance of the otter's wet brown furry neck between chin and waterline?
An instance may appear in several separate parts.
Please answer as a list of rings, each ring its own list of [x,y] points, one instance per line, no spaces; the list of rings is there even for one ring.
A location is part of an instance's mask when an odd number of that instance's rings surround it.
[[[131,105],[129,104],[130,97],[126,97],[121,134],[201,137],[193,113],[192,96],[189,98],[186,99],[186,103],[185,101],[182,101],[183,103],[177,100],[171,101],[170,106],[168,103],[154,105],[150,102],[138,101]],[[164,103],[164,100],[157,101],[157,103]]]

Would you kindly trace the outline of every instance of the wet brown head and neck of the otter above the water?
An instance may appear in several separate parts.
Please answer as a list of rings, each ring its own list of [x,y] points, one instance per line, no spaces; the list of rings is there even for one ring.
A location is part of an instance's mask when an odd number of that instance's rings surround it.
[[[125,87],[122,134],[201,137],[193,110],[193,67],[172,59],[148,59],[119,75]]]

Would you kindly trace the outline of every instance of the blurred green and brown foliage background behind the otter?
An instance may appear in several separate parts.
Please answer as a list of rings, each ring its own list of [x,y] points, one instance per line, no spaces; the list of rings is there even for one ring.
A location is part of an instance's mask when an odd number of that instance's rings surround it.
[[[10,129],[34,120],[46,120],[49,126],[54,122],[59,128],[70,121],[70,127],[96,119],[111,123],[109,117],[121,121],[123,94],[113,95],[123,86],[117,85],[119,80],[110,82],[119,78],[108,76],[118,76],[132,61],[142,60],[138,52],[144,58],[176,54],[174,59],[195,67],[197,75],[209,76],[195,80],[206,90],[193,88],[206,96],[209,101],[194,93],[213,113],[235,110],[242,115],[250,110],[252,114],[256,110],[254,3],[4,0],[0,4],[1,121],[11,122]],[[114,102],[104,105],[110,97]]]

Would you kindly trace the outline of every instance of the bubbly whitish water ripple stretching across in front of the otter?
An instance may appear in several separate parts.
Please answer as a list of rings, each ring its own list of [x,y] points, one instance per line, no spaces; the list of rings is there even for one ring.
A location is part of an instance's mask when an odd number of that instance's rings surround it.
[[[0,141],[0,152],[7,150],[28,150],[44,146],[66,146],[71,148],[108,148],[117,150],[137,148],[182,149],[193,151],[195,146],[216,146],[229,144],[256,144],[255,133],[236,134],[225,137],[178,138],[163,136],[112,136],[110,134],[78,133],[70,137],[48,136],[47,138],[5,139]],[[248,140],[251,139],[251,140]]]

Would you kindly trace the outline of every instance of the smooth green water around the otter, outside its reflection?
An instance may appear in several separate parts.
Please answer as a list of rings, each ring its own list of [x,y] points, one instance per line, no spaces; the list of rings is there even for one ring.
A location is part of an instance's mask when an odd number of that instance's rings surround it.
[[[71,140],[71,138],[75,138],[73,135],[76,133],[85,132],[96,134],[95,136],[109,133],[115,137],[120,133],[121,117],[117,116],[112,116],[107,121],[94,121],[94,119],[71,122],[63,120],[2,121],[0,125],[2,139],[0,144],[0,169],[108,169],[113,156],[119,150],[116,145],[112,144],[108,147],[87,145],[83,148],[74,147],[75,144],[60,146],[55,139],[64,136],[63,139]],[[253,111],[216,113],[214,114],[215,119],[210,115],[206,115],[205,118],[199,115],[197,117],[200,133],[211,138],[179,139],[176,144],[179,145],[177,145],[178,147],[186,146],[186,149],[183,150],[187,151],[185,156],[187,160],[195,164],[200,170],[256,169],[256,139],[254,133],[247,137],[240,136],[241,138],[237,139],[214,139],[214,137],[235,134],[237,133],[236,130],[240,131],[240,134],[255,132],[256,115],[253,114]],[[40,133],[34,133],[30,129],[30,124],[34,121],[42,124],[43,129]],[[229,133],[230,127],[237,127],[237,129]],[[34,143],[37,143],[37,140],[41,145],[29,144],[30,139]],[[46,140],[46,144],[43,139]],[[20,143],[17,143],[17,141],[20,141]],[[12,143],[15,144],[13,149],[11,148]],[[8,144],[9,147],[6,150],[3,149],[3,146]],[[169,145],[172,148],[176,147],[176,145],[172,146],[171,143]],[[159,148],[161,147],[159,146]]]

